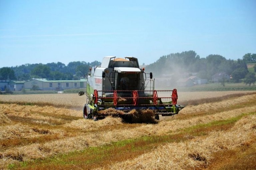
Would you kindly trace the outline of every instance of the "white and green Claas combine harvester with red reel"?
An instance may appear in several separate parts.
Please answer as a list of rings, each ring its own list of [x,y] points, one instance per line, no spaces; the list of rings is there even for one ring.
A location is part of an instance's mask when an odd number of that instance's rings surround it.
[[[97,120],[100,117],[113,115],[129,117],[132,110],[153,111],[155,119],[159,115],[178,114],[184,106],[177,105],[177,90],[155,90],[152,73],[140,69],[138,59],[134,57],[103,58],[101,66],[90,67],[87,78],[87,103],[83,114],[85,119]],[[158,97],[159,94],[168,97]],[[149,116],[152,116],[152,114]]]

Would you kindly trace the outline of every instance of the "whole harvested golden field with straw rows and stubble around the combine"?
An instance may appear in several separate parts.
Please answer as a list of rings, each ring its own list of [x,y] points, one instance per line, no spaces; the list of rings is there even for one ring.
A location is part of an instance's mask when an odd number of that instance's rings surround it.
[[[124,123],[110,110],[105,112],[112,116],[106,119],[85,120],[82,109],[76,110],[78,95],[70,103],[64,97],[66,104],[57,100],[66,94],[50,95],[53,99],[48,96],[44,101],[33,100],[36,95],[21,100],[14,98],[22,95],[5,95],[8,99],[2,95],[0,169],[206,169],[212,163],[231,167],[229,160],[238,159],[241,149],[244,157],[254,155],[241,161],[245,169],[255,169],[256,94],[221,93],[212,92],[219,97],[214,102],[186,106],[169,121],[147,124]],[[226,164],[215,161],[223,151],[232,153],[225,156]]]

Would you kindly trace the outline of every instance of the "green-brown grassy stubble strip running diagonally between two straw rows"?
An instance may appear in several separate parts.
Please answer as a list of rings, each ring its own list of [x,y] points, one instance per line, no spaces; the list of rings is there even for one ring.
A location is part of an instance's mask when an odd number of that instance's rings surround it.
[[[93,169],[108,166],[117,161],[132,159],[164,143],[181,142],[204,136],[211,131],[227,130],[244,116],[242,114],[222,121],[213,121],[189,128],[179,129],[176,133],[162,136],[143,136],[136,139],[127,139],[113,142],[101,147],[89,147],[83,151],[73,151],[68,154],[58,154],[54,157],[20,164],[10,164],[10,169]]]

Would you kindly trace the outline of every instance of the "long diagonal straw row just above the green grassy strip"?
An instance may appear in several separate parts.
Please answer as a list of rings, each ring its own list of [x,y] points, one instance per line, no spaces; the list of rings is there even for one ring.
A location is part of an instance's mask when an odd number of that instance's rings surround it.
[[[146,135],[164,135],[168,134],[171,131],[175,131],[179,128],[186,128],[197,124],[209,123],[211,121],[217,120],[225,120],[231,117],[235,117],[241,115],[243,113],[251,113],[256,112],[256,106],[250,107],[246,109],[235,109],[228,112],[217,113],[215,115],[210,116],[202,116],[199,118],[193,118],[190,120],[175,120],[175,121],[163,121],[159,124],[153,125],[142,125],[136,128],[129,128],[129,129],[112,129],[102,131],[99,129],[97,133],[95,132],[88,132],[86,135],[81,135],[78,137],[67,137],[63,139],[59,139],[52,142],[47,142],[44,145],[47,148],[52,148],[50,150],[39,150],[37,145],[32,144],[23,147],[17,147],[14,149],[10,148],[5,152],[2,152],[3,155],[12,155],[18,151],[20,155],[22,155],[24,160],[35,159],[35,158],[43,158],[45,155],[55,155],[57,153],[67,153],[74,149],[83,150],[87,146],[102,146],[104,144],[110,144],[111,142],[124,140],[124,139],[131,139]],[[101,123],[98,121],[97,123]],[[72,141],[72,145],[69,142]],[[63,146],[64,144],[67,147]],[[59,149],[58,149],[59,147]],[[29,152],[28,152],[29,151]],[[33,152],[33,154],[31,153]]]

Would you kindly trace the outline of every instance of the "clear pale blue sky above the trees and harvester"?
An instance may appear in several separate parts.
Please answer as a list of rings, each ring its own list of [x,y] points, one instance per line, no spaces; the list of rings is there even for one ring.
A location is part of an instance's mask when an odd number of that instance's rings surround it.
[[[0,68],[134,56],[256,53],[255,0],[0,0]]]

